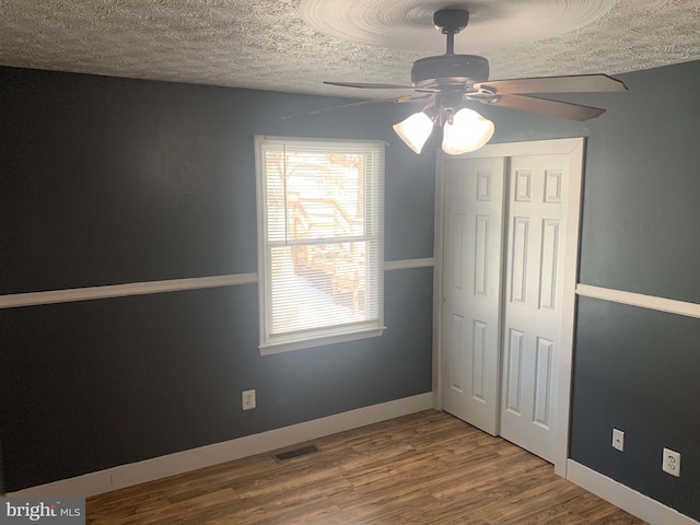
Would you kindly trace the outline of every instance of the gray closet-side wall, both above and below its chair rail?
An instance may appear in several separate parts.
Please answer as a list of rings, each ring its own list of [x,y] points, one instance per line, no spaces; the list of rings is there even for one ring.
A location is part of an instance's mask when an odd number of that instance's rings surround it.
[[[587,122],[488,108],[494,140],[586,136],[580,282],[700,303],[700,62],[618,78],[629,93],[560,97],[608,109]],[[571,457],[696,520],[699,340],[700,319],[579,300]]]

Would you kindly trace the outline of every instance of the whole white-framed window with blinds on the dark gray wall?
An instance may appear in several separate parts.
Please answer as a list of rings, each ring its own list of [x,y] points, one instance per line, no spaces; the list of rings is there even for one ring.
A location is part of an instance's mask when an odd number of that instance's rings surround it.
[[[256,137],[260,350],[384,329],[384,143]]]

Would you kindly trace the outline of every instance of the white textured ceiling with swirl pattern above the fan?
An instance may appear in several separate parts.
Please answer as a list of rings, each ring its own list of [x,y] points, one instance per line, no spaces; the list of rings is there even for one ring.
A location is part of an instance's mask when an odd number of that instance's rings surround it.
[[[700,59],[699,0],[0,0],[0,65],[383,97],[322,82],[410,83],[413,60],[444,52],[444,7],[472,13],[456,51],[486,56],[491,79]]]

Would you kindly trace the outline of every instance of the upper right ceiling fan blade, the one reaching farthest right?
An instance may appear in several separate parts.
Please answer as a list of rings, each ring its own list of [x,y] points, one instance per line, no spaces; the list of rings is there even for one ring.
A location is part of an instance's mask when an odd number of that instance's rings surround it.
[[[511,93],[593,93],[627,91],[623,82],[607,74],[574,74],[570,77],[540,77],[479,82],[475,89],[486,88],[499,95]]]

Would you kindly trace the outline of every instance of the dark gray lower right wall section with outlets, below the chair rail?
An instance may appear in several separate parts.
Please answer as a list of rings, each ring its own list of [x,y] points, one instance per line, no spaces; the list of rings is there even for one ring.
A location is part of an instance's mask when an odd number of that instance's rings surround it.
[[[581,298],[571,433],[575,460],[696,520],[699,338],[700,319]],[[662,471],[664,447],[680,452],[680,478]]]

